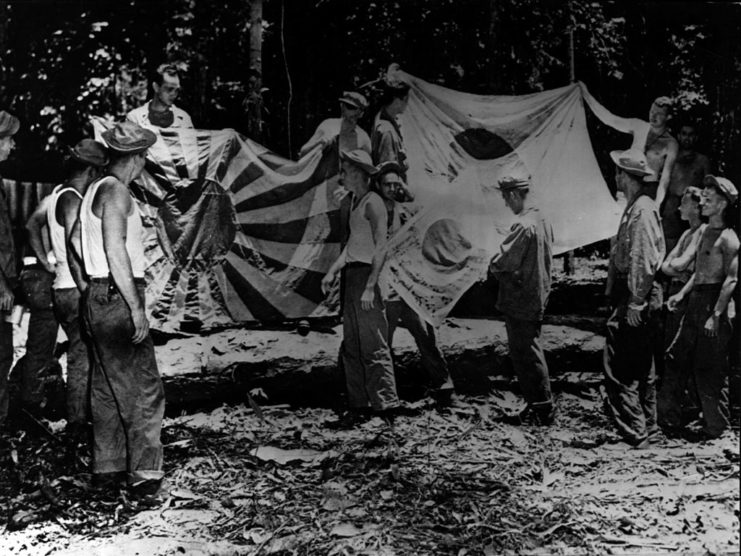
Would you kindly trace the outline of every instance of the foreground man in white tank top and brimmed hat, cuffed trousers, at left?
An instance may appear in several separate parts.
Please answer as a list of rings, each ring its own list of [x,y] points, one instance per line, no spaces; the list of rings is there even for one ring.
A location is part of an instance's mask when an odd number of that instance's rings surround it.
[[[160,431],[162,380],[145,313],[142,219],[129,184],[144,169],[156,135],[126,121],[105,131],[107,175],[88,187],[80,205],[85,317],[95,367],[91,377],[93,473],[101,486],[128,482],[152,503],[165,495]]]

